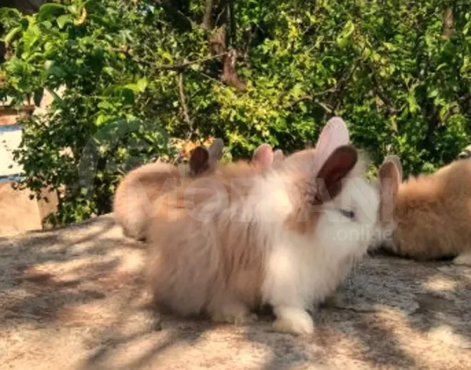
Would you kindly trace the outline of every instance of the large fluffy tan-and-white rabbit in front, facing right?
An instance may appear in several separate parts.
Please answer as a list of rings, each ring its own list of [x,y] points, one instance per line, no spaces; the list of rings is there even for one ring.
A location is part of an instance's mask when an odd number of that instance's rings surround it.
[[[307,310],[366,253],[378,214],[378,190],[348,143],[347,126],[335,117],[315,152],[262,172],[244,163],[220,166],[161,197],[148,224],[154,303],[236,324],[269,304],[274,329],[312,333]]]

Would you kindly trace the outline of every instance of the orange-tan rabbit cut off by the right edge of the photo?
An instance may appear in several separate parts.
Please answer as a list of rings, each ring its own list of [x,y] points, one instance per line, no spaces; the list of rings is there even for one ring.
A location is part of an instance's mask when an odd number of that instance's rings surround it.
[[[373,249],[415,260],[455,257],[471,265],[471,161],[457,160],[435,173],[402,182],[399,157],[383,161],[381,205]]]

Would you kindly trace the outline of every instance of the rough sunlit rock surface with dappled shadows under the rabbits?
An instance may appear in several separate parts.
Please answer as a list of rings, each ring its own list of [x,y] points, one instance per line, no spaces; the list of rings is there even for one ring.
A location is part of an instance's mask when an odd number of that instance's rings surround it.
[[[366,258],[313,336],[162,317],[112,216],[0,238],[1,369],[471,369],[471,269]]]

